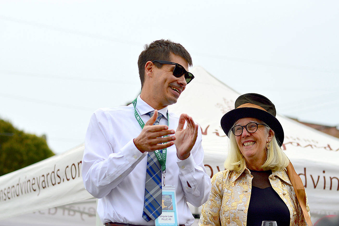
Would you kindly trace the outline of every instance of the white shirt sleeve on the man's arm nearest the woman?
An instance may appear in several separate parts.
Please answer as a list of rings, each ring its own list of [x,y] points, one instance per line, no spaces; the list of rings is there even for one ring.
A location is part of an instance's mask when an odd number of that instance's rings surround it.
[[[186,201],[199,207],[204,204],[211,192],[211,178],[207,175],[203,164],[204,150],[201,146],[201,130],[198,128],[198,138],[192,148],[191,155],[178,159],[179,178]],[[188,184],[191,186],[188,186]]]

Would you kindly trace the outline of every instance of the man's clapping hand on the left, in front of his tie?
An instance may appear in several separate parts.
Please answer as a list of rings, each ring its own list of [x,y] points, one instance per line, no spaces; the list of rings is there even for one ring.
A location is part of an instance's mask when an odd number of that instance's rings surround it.
[[[134,145],[142,153],[164,149],[174,144],[175,136],[162,136],[174,134],[175,131],[173,129],[169,130],[166,125],[153,125],[157,117],[158,111],[155,110],[154,115],[145,123],[139,136],[133,139]]]

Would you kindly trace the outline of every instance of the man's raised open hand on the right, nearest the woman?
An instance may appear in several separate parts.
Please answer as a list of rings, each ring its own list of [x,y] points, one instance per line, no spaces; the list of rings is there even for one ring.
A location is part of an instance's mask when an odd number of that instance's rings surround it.
[[[187,126],[184,129],[185,122],[187,122]],[[177,148],[177,156],[180,160],[187,159],[188,156],[190,156],[197,136],[198,125],[194,123],[192,117],[187,114],[181,114],[178,128],[175,132],[176,139],[174,140],[174,144]]]

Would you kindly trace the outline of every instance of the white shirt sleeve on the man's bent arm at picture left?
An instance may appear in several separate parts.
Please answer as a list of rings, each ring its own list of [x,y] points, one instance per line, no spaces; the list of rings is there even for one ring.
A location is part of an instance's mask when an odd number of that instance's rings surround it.
[[[82,178],[85,189],[96,198],[105,197],[146,156],[130,140],[120,150],[109,143],[111,123],[105,112],[97,110],[91,117],[82,160]]]

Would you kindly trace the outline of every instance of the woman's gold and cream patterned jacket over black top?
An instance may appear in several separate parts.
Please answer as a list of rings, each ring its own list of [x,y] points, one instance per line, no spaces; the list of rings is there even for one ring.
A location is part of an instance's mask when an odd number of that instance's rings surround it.
[[[224,170],[216,173],[211,181],[210,197],[201,209],[199,225],[246,226],[252,178],[253,176],[247,168],[241,172]],[[272,188],[290,210],[290,225],[306,226],[301,207],[286,170],[272,171],[268,179]],[[310,214],[307,197],[306,209]]]

